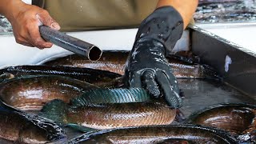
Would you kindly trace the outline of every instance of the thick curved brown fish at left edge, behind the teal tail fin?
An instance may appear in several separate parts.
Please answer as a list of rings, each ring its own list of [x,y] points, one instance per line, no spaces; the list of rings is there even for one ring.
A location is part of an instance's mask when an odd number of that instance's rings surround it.
[[[41,110],[46,102],[62,99],[70,102],[83,93],[94,89],[90,83],[57,75],[37,75],[12,78],[0,84],[2,101],[21,110]]]

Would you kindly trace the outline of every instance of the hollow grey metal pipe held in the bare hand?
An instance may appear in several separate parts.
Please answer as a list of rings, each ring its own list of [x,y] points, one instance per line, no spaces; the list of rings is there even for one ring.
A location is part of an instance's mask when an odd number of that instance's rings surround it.
[[[78,38],[51,29],[47,26],[39,26],[39,31],[46,41],[54,43],[54,45],[61,46],[66,50],[70,50],[75,54],[86,56],[91,61],[97,61],[102,56],[102,50],[98,46],[94,46],[88,42],[84,42]]]

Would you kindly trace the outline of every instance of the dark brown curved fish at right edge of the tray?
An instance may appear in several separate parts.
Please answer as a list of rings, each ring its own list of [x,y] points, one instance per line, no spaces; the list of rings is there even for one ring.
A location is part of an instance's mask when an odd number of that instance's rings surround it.
[[[217,127],[236,136],[256,130],[256,106],[221,104],[191,114],[188,123]]]

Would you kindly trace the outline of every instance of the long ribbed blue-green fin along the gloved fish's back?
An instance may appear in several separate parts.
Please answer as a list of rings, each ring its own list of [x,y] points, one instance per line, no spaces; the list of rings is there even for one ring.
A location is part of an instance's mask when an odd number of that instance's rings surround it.
[[[140,88],[86,90],[81,96],[70,100],[72,106],[100,103],[148,102],[150,94]]]

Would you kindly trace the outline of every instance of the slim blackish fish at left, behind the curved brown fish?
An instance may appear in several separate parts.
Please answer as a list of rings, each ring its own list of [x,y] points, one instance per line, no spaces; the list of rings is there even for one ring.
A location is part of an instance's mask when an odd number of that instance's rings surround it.
[[[112,79],[121,76],[120,74],[111,73],[106,70],[94,70],[68,66],[10,66],[0,70],[0,75],[5,73],[13,74],[14,77],[38,74],[61,75],[93,84],[110,82]]]

